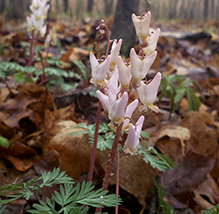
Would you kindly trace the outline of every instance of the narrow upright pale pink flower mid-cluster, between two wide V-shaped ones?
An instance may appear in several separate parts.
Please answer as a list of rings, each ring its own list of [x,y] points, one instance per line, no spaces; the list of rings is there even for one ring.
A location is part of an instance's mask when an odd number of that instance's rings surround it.
[[[121,88],[127,88],[132,78],[131,69],[125,65],[121,56],[118,57],[117,66],[119,70],[119,82],[121,83]]]

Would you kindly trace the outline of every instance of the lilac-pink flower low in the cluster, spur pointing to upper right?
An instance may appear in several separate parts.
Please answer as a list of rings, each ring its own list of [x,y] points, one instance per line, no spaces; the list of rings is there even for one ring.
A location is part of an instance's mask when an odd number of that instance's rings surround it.
[[[109,119],[116,124],[120,124],[124,120],[125,109],[128,103],[128,93],[124,92],[114,102],[110,102],[109,106]]]

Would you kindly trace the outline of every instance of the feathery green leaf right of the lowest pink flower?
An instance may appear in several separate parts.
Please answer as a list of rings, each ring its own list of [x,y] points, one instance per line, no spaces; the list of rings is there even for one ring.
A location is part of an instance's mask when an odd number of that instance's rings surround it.
[[[175,163],[172,159],[158,153],[154,147],[149,146],[148,149],[146,149],[144,146],[139,145],[137,152],[143,155],[143,160],[146,163],[150,163],[153,168],[159,171],[165,172],[167,169],[175,167]]]

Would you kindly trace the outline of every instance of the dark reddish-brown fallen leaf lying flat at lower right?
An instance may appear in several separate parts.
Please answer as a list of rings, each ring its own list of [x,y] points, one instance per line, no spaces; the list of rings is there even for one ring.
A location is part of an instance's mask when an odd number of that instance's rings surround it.
[[[215,157],[189,151],[174,170],[162,175],[162,186],[173,196],[185,197],[207,179]]]

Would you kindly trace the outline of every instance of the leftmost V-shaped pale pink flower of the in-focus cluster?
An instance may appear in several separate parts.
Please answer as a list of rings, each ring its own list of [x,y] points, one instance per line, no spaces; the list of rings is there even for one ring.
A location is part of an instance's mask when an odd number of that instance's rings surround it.
[[[94,54],[90,52],[90,63],[92,71],[91,82],[94,83],[96,87],[103,85],[110,64],[110,56],[108,56],[101,64],[99,64]]]

